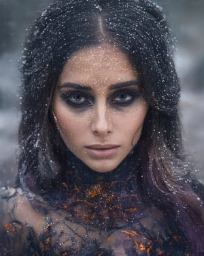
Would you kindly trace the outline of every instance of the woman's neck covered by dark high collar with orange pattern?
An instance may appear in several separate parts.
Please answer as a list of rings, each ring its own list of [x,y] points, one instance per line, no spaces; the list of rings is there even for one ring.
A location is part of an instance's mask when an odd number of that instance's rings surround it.
[[[130,152],[116,169],[99,173],[67,152],[67,180],[58,207],[69,212],[71,220],[99,229],[134,222],[142,211],[134,156]]]

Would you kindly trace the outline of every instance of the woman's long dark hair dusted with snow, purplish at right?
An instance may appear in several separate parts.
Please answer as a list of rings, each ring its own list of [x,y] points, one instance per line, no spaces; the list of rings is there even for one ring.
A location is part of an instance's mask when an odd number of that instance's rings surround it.
[[[190,186],[183,154],[173,39],[163,12],[150,1],[61,0],[35,21],[22,55],[17,183],[25,193],[32,190],[47,200],[53,191],[58,195],[65,145],[52,115],[54,89],[72,53],[103,42],[129,56],[150,106],[137,145],[143,198],[180,221],[199,255],[204,239],[201,202]]]

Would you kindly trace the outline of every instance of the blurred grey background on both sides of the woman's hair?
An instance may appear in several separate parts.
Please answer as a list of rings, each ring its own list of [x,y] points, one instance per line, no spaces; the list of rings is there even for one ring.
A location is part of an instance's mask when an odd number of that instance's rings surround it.
[[[49,0],[0,0],[0,186],[14,182],[20,119],[18,59],[27,28]],[[177,38],[184,143],[204,184],[204,1],[157,0]]]

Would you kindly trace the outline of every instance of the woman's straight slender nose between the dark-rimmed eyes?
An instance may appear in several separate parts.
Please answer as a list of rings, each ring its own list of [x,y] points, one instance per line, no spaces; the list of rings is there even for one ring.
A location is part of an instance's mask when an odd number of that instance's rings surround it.
[[[112,132],[112,122],[109,109],[106,106],[95,106],[92,115],[91,130],[99,136],[105,136]]]

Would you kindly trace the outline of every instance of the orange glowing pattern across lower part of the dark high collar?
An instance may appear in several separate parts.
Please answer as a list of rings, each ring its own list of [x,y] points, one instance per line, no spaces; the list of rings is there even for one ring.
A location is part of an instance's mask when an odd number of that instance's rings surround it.
[[[96,184],[84,184],[82,177],[70,174],[76,182],[61,184],[67,199],[58,203],[58,208],[68,212],[73,221],[85,225],[94,223],[95,227],[101,223],[103,229],[112,229],[117,223],[135,219],[141,203],[137,194],[129,195],[126,191],[125,180],[110,182],[100,178]],[[129,178],[135,179],[135,175]]]

